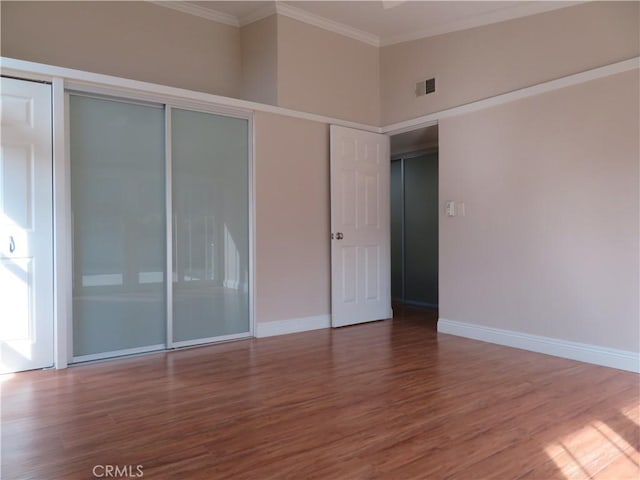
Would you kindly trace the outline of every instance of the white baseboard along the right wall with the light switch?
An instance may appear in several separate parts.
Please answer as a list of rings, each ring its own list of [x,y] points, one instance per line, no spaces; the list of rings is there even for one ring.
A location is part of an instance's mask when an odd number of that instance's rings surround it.
[[[459,337],[640,373],[640,353],[638,352],[456,322],[446,318],[438,319],[438,333],[448,333]]]

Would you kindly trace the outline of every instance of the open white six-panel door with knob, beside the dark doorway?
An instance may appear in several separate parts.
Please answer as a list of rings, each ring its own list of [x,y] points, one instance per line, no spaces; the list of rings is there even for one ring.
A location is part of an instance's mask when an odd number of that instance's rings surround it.
[[[331,126],[331,325],[391,317],[389,137]]]

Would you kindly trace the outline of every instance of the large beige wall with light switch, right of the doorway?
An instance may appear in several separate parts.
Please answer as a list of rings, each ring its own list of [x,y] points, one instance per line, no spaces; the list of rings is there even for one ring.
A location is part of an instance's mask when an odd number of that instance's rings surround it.
[[[638,71],[440,123],[440,316],[640,351]]]

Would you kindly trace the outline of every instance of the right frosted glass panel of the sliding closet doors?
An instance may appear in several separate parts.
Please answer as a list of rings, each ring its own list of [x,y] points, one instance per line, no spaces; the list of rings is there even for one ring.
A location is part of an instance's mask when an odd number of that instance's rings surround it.
[[[249,332],[248,121],[172,109],[173,341]]]

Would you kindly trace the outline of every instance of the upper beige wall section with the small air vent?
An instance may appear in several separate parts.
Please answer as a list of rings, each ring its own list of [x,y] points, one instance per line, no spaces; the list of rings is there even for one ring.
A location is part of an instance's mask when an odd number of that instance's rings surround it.
[[[383,47],[382,123],[635,57],[639,32],[640,3],[598,2]],[[430,77],[436,93],[416,98]]]

